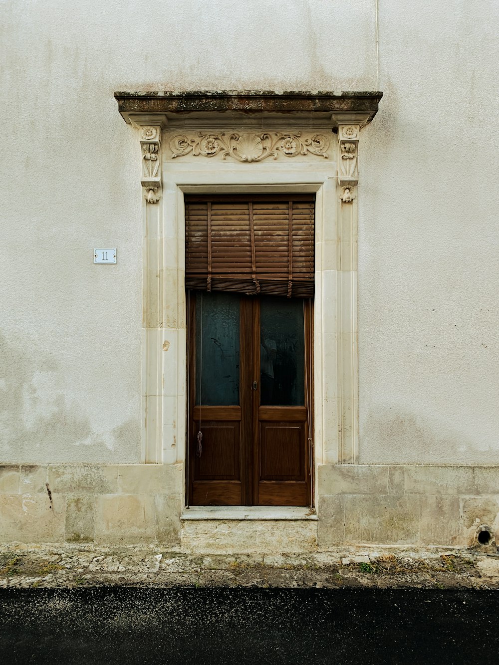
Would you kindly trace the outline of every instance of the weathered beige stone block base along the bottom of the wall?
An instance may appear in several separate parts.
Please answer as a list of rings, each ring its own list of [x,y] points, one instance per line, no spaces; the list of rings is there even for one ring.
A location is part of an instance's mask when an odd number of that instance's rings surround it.
[[[279,508],[260,519],[228,507],[189,519],[182,464],[0,466],[0,543],[158,544],[190,555],[361,545],[496,552],[499,467],[323,465],[316,483],[317,515]]]

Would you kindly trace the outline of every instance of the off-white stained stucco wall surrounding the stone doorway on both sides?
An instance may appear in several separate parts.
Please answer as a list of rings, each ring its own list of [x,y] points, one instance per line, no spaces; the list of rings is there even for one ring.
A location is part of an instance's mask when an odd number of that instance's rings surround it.
[[[114,90],[374,90],[361,462],[499,462],[494,1],[0,3],[0,460],[140,459],[137,137]],[[94,247],[118,248],[95,266]]]

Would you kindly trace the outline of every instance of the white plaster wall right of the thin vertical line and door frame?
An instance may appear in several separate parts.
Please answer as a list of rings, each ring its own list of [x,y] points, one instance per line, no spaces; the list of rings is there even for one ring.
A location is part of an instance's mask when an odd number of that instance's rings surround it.
[[[499,463],[496,1],[380,0],[361,146],[361,462]]]

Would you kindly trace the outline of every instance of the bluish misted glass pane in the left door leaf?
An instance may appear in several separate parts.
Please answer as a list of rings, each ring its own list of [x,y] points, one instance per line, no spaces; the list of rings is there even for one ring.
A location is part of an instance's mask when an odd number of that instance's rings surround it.
[[[239,404],[240,296],[196,295],[196,405]]]

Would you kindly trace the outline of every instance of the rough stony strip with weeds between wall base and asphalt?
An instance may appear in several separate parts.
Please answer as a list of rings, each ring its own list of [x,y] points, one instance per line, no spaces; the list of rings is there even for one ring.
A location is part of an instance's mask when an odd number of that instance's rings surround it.
[[[499,555],[343,548],[309,555],[192,556],[158,547],[0,547],[0,589],[110,585],[499,589]]]

